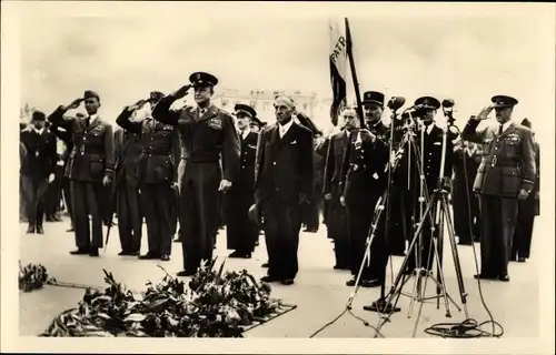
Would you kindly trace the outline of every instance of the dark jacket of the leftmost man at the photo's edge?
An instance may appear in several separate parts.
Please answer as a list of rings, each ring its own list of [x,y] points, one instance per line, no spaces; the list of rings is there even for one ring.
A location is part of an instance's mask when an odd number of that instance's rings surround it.
[[[21,174],[36,181],[47,179],[54,173],[58,154],[56,151],[56,136],[47,128],[39,134],[32,125],[20,133],[27,154],[21,162]]]

